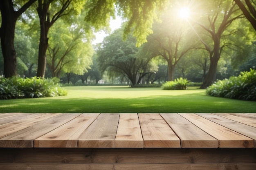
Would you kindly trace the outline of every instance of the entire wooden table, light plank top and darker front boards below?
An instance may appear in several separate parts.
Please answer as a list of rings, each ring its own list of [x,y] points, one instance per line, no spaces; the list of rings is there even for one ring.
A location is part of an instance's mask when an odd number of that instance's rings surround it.
[[[0,113],[0,170],[256,170],[256,113]]]

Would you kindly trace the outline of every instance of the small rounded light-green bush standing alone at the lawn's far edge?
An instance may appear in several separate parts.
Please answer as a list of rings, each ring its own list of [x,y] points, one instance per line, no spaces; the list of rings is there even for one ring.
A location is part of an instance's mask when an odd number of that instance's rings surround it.
[[[165,82],[162,85],[163,90],[186,90],[186,86],[189,81],[187,79],[183,79],[180,77],[179,79],[175,79],[174,81]]]

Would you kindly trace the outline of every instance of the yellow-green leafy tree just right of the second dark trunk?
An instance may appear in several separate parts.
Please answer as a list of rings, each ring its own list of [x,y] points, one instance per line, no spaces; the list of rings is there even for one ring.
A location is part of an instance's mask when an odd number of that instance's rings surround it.
[[[60,77],[63,73],[83,75],[88,72],[92,53],[90,35],[85,33],[81,24],[69,26],[58,20],[49,31],[47,66],[53,77]]]

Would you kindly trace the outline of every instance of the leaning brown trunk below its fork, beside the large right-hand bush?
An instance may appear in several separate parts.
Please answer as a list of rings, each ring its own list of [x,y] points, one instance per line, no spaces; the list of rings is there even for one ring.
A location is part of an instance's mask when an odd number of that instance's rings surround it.
[[[213,56],[210,58],[210,67],[209,71],[204,79],[204,82],[202,86],[200,87],[201,89],[207,88],[208,86],[211,86],[216,81],[216,71],[217,71],[217,65],[220,57],[218,56]]]

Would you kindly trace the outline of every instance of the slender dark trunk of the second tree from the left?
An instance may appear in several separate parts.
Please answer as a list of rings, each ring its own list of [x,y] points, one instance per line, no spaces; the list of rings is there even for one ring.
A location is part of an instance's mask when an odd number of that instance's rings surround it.
[[[43,9],[38,9],[38,15],[40,19],[40,42],[38,49],[38,68],[37,68],[37,77],[44,78],[45,77],[45,69],[46,69],[46,51],[48,47],[48,31],[49,26],[47,26],[46,15],[47,11]],[[40,11],[41,10],[41,11]]]

